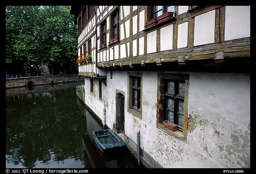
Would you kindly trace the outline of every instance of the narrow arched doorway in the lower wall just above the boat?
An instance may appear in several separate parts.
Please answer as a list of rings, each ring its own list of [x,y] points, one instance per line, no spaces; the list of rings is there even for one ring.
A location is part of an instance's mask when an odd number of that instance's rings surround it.
[[[116,124],[114,128],[117,133],[124,134],[124,95],[122,93],[116,94]]]

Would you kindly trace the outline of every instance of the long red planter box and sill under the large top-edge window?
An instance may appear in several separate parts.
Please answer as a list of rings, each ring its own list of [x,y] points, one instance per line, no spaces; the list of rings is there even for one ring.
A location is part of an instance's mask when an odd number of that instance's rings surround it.
[[[163,23],[167,20],[175,20],[176,17],[173,12],[166,12],[163,15],[158,16],[157,18],[151,19],[145,23],[145,30],[151,27],[156,26],[157,24]]]

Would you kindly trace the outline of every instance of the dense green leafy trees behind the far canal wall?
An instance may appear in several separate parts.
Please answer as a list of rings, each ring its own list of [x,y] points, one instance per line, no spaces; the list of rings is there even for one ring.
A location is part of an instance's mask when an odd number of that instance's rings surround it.
[[[70,6],[6,6],[6,64],[77,69],[77,28],[69,12]]]

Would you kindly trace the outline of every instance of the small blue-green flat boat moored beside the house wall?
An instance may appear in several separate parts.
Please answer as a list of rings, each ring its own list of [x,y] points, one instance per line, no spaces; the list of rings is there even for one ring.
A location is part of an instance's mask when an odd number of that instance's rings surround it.
[[[103,153],[125,146],[124,142],[111,129],[92,131],[92,137]]]

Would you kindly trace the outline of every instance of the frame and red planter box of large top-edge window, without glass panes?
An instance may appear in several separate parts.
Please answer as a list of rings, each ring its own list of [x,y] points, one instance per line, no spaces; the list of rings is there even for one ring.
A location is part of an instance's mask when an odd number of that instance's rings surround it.
[[[155,6],[148,6],[148,22],[145,23],[145,28],[149,28],[149,27],[153,27],[159,23],[163,23],[165,21],[168,21],[168,19],[173,19],[175,20],[176,19],[176,12],[174,10],[174,12],[168,12],[167,11],[167,8],[169,6],[162,6],[162,9],[161,10],[158,10],[158,11],[154,11],[154,7]],[[174,6],[174,9],[175,9],[175,6]],[[155,16],[155,14],[157,12],[160,12],[160,11],[163,11],[162,12],[162,15],[160,16]]]

